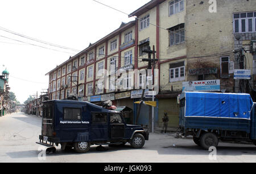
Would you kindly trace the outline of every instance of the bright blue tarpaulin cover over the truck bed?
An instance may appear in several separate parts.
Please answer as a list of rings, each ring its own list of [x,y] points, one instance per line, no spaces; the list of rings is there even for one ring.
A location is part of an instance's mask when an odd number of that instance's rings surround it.
[[[185,117],[242,118],[250,120],[249,94],[185,92]]]

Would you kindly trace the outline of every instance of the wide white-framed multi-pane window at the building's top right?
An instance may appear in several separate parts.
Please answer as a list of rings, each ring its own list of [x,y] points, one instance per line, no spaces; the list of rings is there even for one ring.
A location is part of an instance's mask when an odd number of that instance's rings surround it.
[[[255,32],[256,12],[242,12],[233,14],[234,33]]]

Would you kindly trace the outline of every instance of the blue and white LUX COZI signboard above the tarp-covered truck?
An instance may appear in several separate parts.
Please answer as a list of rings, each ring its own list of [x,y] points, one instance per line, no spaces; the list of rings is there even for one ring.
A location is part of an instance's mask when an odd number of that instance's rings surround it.
[[[220,80],[202,80],[195,82],[183,82],[182,91],[220,91]]]

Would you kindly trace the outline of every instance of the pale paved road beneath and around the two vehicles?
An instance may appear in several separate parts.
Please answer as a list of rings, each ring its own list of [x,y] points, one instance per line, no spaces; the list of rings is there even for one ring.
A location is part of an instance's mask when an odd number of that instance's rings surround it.
[[[55,154],[38,158],[40,148],[37,145],[41,131],[41,118],[24,113],[14,113],[0,117],[0,162],[256,162],[256,147],[233,143],[221,143],[217,148],[216,160],[209,159],[209,151],[202,150],[191,139],[176,139],[175,134],[150,134],[142,149],[108,147],[108,151],[97,151],[92,146],[86,154],[77,154],[74,150],[61,151],[57,147]],[[43,156],[41,156],[43,157]],[[40,160],[41,159],[41,160]]]

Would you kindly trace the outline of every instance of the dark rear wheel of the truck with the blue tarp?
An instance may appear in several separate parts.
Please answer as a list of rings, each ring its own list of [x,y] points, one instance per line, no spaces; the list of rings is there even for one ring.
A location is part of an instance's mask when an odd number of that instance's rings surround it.
[[[205,150],[209,150],[209,147],[217,147],[218,146],[218,138],[213,133],[204,133],[200,137],[200,145]]]

